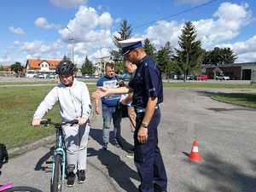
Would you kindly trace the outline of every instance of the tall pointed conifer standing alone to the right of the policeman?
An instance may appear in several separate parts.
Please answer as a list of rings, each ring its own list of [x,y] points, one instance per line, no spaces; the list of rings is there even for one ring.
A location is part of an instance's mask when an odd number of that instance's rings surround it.
[[[201,69],[203,49],[201,41],[196,40],[196,36],[195,26],[191,21],[186,22],[178,41],[180,49],[176,49],[177,67],[180,73],[183,73],[184,81],[188,74]]]

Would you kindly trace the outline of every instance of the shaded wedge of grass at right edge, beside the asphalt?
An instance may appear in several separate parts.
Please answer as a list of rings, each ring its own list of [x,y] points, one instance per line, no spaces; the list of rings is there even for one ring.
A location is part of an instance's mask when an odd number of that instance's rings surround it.
[[[248,108],[256,108],[256,94],[253,93],[220,93],[212,96],[212,99]]]

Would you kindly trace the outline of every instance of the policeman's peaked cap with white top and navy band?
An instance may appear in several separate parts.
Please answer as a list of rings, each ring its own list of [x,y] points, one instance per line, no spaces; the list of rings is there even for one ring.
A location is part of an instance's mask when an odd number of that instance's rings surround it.
[[[128,38],[123,41],[119,41],[119,45],[122,47],[122,55],[129,53],[133,49],[143,47],[143,38]]]

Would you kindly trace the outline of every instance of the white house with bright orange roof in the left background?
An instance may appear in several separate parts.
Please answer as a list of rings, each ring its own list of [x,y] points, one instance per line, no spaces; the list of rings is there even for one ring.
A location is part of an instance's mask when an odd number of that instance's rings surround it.
[[[26,76],[29,76],[28,74],[55,73],[55,68],[59,65],[60,61],[58,59],[27,59]]]

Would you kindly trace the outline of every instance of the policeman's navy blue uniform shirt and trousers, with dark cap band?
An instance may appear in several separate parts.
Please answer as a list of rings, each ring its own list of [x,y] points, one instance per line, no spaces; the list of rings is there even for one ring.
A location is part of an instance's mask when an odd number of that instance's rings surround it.
[[[137,42],[137,44],[128,44],[125,48],[123,47],[123,54],[127,53],[129,49],[141,46],[141,41]],[[163,84],[160,68],[149,55],[146,55],[137,63],[136,74],[129,86],[133,89],[132,105],[137,112],[137,126],[134,133],[134,161],[141,179],[139,190],[141,192],[154,192],[154,189],[166,191],[166,169],[160,154],[160,148],[158,148],[157,131],[157,127],[160,124],[160,108],[158,104],[163,102]],[[143,121],[148,97],[157,97],[158,103],[148,124],[148,140],[146,143],[139,143],[137,133]]]

